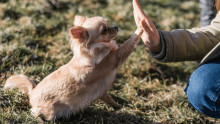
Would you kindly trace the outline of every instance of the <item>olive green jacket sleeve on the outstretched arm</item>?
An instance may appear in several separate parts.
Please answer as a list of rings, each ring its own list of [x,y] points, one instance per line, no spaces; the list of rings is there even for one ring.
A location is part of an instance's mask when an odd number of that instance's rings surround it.
[[[220,12],[207,27],[158,32],[162,50],[150,51],[154,58],[162,62],[202,60],[220,42]]]

